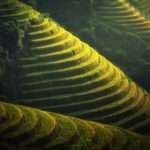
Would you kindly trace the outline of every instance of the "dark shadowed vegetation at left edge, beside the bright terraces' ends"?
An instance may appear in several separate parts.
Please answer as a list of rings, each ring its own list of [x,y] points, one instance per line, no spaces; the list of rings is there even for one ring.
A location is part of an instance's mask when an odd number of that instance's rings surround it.
[[[19,87],[17,57],[23,52],[24,32],[15,20],[0,20],[0,95],[15,97]]]

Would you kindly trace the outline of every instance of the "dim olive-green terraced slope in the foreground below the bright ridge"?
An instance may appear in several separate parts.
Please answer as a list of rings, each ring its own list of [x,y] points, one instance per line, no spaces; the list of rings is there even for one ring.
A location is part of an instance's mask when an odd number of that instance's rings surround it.
[[[38,150],[149,150],[150,141],[127,130],[0,102],[0,147]],[[6,149],[5,149],[6,150]]]

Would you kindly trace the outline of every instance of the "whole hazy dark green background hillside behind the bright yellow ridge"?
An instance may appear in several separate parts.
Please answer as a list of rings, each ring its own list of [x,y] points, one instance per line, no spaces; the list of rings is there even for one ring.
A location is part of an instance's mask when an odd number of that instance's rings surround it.
[[[90,43],[150,90],[149,38],[143,36],[149,36],[150,26],[142,13],[149,9],[149,0],[36,1],[41,12]]]

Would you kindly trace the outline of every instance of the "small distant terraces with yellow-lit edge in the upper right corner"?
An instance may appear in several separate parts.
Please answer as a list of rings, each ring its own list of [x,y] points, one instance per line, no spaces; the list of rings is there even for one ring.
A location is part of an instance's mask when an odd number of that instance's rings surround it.
[[[99,3],[99,5],[98,3],[99,2],[97,1],[94,7],[97,15],[99,15],[99,18],[102,21],[118,28],[124,28],[126,31],[149,41],[150,20],[146,19],[141,11],[136,9],[137,7],[134,7],[134,5],[132,5],[129,1],[106,0]],[[143,6],[143,4],[140,6]]]

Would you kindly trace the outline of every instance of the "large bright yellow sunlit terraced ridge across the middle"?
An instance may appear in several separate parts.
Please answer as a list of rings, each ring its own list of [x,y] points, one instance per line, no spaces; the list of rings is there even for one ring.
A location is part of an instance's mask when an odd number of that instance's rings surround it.
[[[52,19],[17,0],[0,4],[0,18],[28,24],[28,49],[17,60],[22,70],[20,101],[13,102],[149,135],[149,94],[118,67]]]

